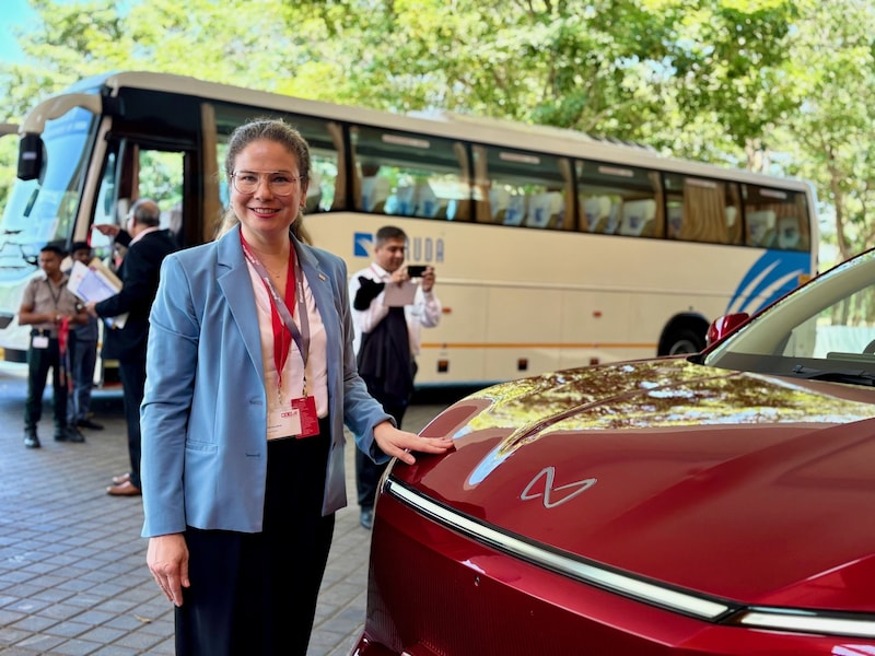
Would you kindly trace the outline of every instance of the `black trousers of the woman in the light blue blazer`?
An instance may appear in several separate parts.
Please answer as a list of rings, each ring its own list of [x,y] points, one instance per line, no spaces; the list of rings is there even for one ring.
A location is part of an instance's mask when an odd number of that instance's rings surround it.
[[[268,443],[261,532],[186,529],[177,656],[306,655],[335,527],[322,516],[330,423],[319,429]]]

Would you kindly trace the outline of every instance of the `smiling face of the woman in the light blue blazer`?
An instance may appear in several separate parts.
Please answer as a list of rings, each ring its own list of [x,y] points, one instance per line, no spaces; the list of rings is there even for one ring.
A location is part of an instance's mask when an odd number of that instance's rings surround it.
[[[257,178],[254,191],[242,194],[231,185],[231,204],[241,221],[241,230],[248,242],[273,242],[288,238],[289,226],[294,223],[306,198],[306,179],[301,175],[294,154],[277,141],[259,139],[250,142],[234,159],[234,172],[247,172]],[[295,178],[291,190],[279,196],[271,189],[277,176]]]

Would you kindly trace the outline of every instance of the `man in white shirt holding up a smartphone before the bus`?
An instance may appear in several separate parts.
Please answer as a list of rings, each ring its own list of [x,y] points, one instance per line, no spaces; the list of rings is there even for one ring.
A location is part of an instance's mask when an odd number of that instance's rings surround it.
[[[434,268],[405,267],[406,249],[407,234],[400,227],[384,225],[376,232],[374,261],[353,273],[349,282],[359,374],[368,384],[368,391],[395,418],[398,427],[413,391],[421,329],[433,328],[441,320],[441,302],[434,294]],[[412,301],[401,305],[398,298],[406,297],[404,291],[411,286],[411,279],[419,284]],[[385,468],[355,452],[361,524],[369,529],[376,487]]]

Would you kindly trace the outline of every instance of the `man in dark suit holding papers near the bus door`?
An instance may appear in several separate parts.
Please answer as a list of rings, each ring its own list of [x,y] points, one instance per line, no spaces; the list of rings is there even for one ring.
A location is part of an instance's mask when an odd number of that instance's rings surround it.
[[[177,249],[176,241],[167,231],[160,229],[160,223],[158,203],[141,198],[130,208],[127,230],[112,224],[94,226],[128,247],[118,269],[121,291],[100,303],[88,304],[88,311],[93,316],[112,319],[127,314],[124,327],[105,331],[102,351],[104,360],[118,360],[128,424],[130,472],[113,477],[113,485],[106,489],[113,496],[136,496],[141,493],[140,403],[145,387],[149,312],[158,292],[161,262]]]

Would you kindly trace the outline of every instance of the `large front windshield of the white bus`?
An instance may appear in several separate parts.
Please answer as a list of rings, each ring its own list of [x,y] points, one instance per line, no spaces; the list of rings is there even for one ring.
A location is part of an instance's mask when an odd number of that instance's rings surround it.
[[[0,220],[0,280],[30,276],[39,248],[70,235],[94,122],[93,114],[74,108],[46,124],[43,171],[15,184]]]

